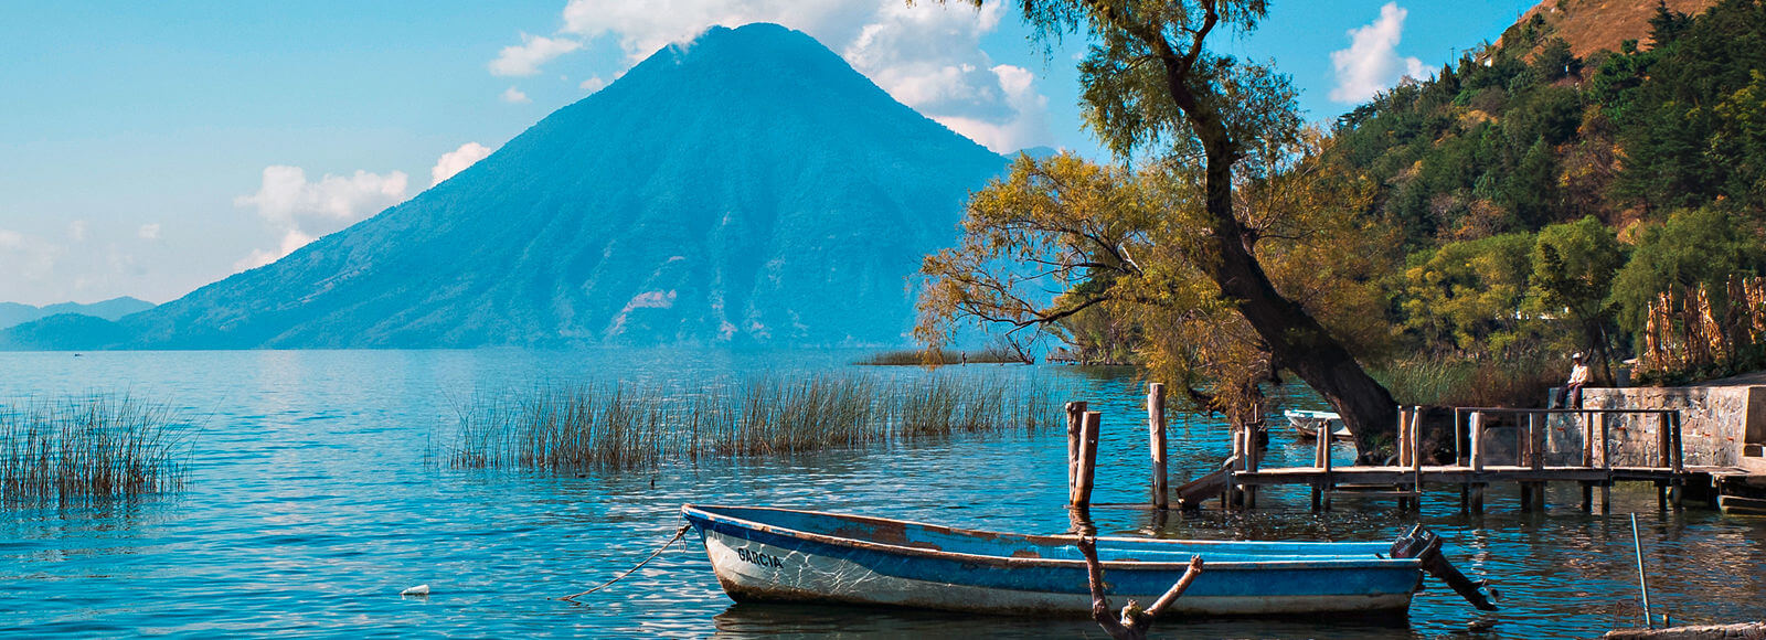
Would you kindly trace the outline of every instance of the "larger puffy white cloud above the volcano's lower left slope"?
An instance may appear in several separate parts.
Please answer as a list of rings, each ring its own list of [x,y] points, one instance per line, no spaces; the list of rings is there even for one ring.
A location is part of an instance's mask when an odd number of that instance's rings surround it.
[[[408,182],[410,177],[404,171],[378,175],[360,170],[348,177],[325,173],[320,180],[307,182],[307,171],[298,166],[267,166],[258,193],[233,198],[233,205],[256,209],[258,217],[283,240],[275,253],[254,249],[235,267],[267,265],[320,235],[343,230],[381,209],[397,205],[406,198]]]

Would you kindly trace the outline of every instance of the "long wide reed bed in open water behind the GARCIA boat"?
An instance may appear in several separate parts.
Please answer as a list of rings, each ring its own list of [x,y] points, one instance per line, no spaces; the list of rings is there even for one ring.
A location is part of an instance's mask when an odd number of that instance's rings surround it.
[[[1053,389],[1005,380],[864,375],[736,385],[555,384],[457,407],[440,460],[456,469],[655,469],[1054,426]],[[1061,423],[1065,424],[1065,423]]]

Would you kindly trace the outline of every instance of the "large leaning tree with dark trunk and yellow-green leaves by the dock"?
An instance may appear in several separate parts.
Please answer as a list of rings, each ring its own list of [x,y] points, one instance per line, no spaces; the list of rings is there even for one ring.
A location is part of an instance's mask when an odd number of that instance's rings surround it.
[[[982,4],[962,2],[975,7]],[[1256,207],[1254,200],[1264,198],[1264,205],[1282,207],[1282,198],[1291,196],[1282,189],[1316,191],[1316,186],[1305,184],[1307,168],[1317,170],[1321,164],[1310,157],[1294,157],[1296,143],[1307,136],[1300,127],[1287,78],[1268,65],[1208,50],[1211,37],[1256,28],[1268,4],[1021,0],[1019,5],[1024,21],[1044,42],[1072,34],[1091,42],[1079,64],[1088,124],[1118,157],[1141,159],[1143,170],[1130,177],[1118,175],[1121,184],[1111,189],[1107,184],[1063,182],[1060,170],[1042,170],[1044,175],[1037,175],[1038,163],[1021,159],[1012,177],[971,202],[964,246],[927,258],[931,286],[922,301],[920,336],[936,339],[934,327],[940,320],[948,324],[955,316],[1044,327],[1107,308],[1118,313],[1125,308],[1162,309],[1164,316],[1141,320],[1217,327],[1213,332],[1201,332],[1220,343],[1213,352],[1197,354],[1189,345],[1153,348],[1178,364],[1189,364],[1183,370],[1196,371],[1201,366],[1201,373],[1217,382],[1215,396],[1222,391],[1243,396],[1231,387],[1219,387],[1219,382],[1241,385],[1257,375],[1293,371],[1337,408],[1363,453],[1392,442],[1397,403],[1356,362],[1351,354],[1355,339],[1346,343],[1340,331],[1333,334],[1321,322],[1319,308],[1309,309],[1296,299],[1296,292],[1284,292],[1263,262],[1268,251],[1259,251],[1259,242],[1279,233],[1287,216]],[[1365,191],[1355,184],[1355,177],[1339,179],[1351,191]],[[1014,180],[1019,182],[1017,189],[1012,187]],[[1100,180],[1109,182],[1111,177]],[[996,189],[1001,184],[1005,187]],[[994,216],[992,223],[1003,226],[992,232],[1005,233],[1005,239],[978,233],[985,225],[978,217],[985,216],[977,212],[984,207],[1001,207],[1005,216]],[[1060,212],[1051,214],[1051,207],[1065,207],[1072,219],[1056,219],[1051,228],[1044,228],[1012,216],[1060,217]],[[1113,217],[1104,214],[1109,210],[1128,221],[1104,223]],[[1012,233],[1023,244],[1012,244]],[[1307,239],[1293,240],[1300,246]],[[962,255],[966,249],[971,255]],[[1143,255],[1136,255],[1137,249]],[[1148,253],[1169,253],[1185,269],[1150,274],[1155,260]],[[1001,276],[998,260],[1021,260],[1049,269]],[[1333,269],[1326,263],[1316,267]],[[1183,281],[1190,269],[1210,285],[1206,292]],[[1033,302],[1023,290],[1028,278],[1051,274],[1070,278],[1074,286],[1047,304],[1010,304]],[[1132,286],[1118,286],[1123,276],[1134,279]],[[1160,290],[1160,285],[1169,290]],[[1146,339],[1169,341],[1169,334],[1160,336],[1167,329],[1148,324]],[[1243,345],[1263,355],[1250,359],[1257,364],[1243,371],[1206,370],[1217,357],[1222,362],[1245,362],[1243,357],[1222,355],[1231,355],[1231,348],[1245,348]],[[1215,407],[1231,405],[1220,398],[1199,400],[1213,401]]]

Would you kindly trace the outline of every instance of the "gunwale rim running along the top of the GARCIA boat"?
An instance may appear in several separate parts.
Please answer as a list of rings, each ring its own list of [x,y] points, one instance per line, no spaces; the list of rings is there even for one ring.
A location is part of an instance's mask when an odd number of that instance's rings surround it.
[[[837,518],[837,520],[860,522],[860,523],[888,523],[888,525],[924,527],[924,529],[931,529],[931,530],[936,530],[936,532],[957,534],[957,536],[971,536],[971,537],[1000,537],[1000,536],[1021,537],[1021,539],[1026,539],[1026,541],[1040,543],[1044,546],[1067,546],[1067,545],[1074,545],[1074,543],[1079,541],[1079,536],[1035,536],[1035,534],[987,532],[987,530],[975,530],[975,529],[955,529],[955,527],[943,527],[943,525],[929,525],[929,523],[920,523],[920,522],[911,522],[911,520],[876,518],[876,516],[860,516],[860,514],[837,514],[837,513],[812,511],[812,509],[735,507],[735,506],[717,506],[717,504],[706,504],[706,506],[682,504],[682,518],[687,518],[689,523],[692,522],[692,518],[689,518],[687,514],[689,513],[696,513],[698,516],[701,516],[701,518],[705,518],[708,522],[733,525],[736,529],[759,530],[759,532],[766,532],[766,534],[774,534],[774,536],[784,536],[784,537],[793,537],[793,539],[802,539],[802,541],[821,543],[821,545],[828,545],[828,546],[844,546],[844,548],[858,548],[858,550],[879,552],[879,553],[895,553],[895,555],[908,555],[908,557],[924,557],[924,559],[955,560],[955,562],[971,562],[971,564],[991,564],[991,566],[1005,566],[1005,568],[1084,568],[1086,566],[1086,560],[1081,560],[1081,559],[1044,559],[1044,557],[980,555],[980,553],[945,552],[945,550],[931,550],[931,548],[920,548],[920,546],[878,543],[878,541],[858,539],[858,537],[828,536],[828,534],[807,532],[807,530],[788,529],[788,527],[779,527],[779,525],[768,525],[768,523],[761,523],[761,522],[754,522],[754,520],[747,520],[747,518],[736,518],[736,516],[729,516],[729,514],[722,514],[722,513],[713,513],[713,511],[706,511],[706,509],[758,509],[758,511],[774,511],[774,513],[796,513],[796,514],[832,516],[832,518]],[[699,527],[694,525],[694,529],[699,529]],[[1127,541],[1127,543],[1150,543],[1150,541],[1157,541],[1157,539],[1139,539],[1139,537],[1097,537],[1097,539],[1098,541]],[[1060,545],[1047,545],[1047,543],[1060,543]],[[1183,543],[1203,543],[1203,545],[1222,545],[1222,546],[1224,545],[1245,545],[1241,541],[1183,541]],[[1250,543],[1256,545],[1259,541],[1250,541]],[[1275,545],[1282,545],[1282,543],[1275,543]],[[1330,545],[1330,543],[1319,543],[1319,545]],[[1206,553],[1192,553],[1192,555],[1201,555],[1204,562],[1208,559]],[[1173,562],[1160,562],[1160,560],[1100,560],[1098,564],[1102,564],[1106,569],[1120,569],[1120,571],[1183,571],[1183,569],[1187,569],[1190,566],[1189,560],[1181,560],[1181,562],[1176,562],[1176,560],[1173,560]],[[1392,559],[1392,557],[1377,557],[1377,555],[1376,557],[1319,555],[1317,560],[1222,560],[1222,562],[1208,562],[1208,568],[1210,569],[1240,569],[1240,571],[1266,571],[1266,569],[1400,569],[1400,568],[1404,568],[1404,569],[1420,571],[1422,569],[1422,560],[1418,560],[1418,559]]]

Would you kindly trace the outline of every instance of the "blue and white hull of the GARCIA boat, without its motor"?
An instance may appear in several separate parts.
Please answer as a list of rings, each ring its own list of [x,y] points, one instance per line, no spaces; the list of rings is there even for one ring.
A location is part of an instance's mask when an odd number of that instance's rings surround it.
[[[694,516],[724,592],[736,601],[888,605],[954,612],[1086,617],[1091,596],[1077,559],[989,557],[816,539],[804,532]],[[1003,534],[1001,534],[1003,536]],[[925,545],[931,546],[931,545]],[[1148,546],[1148,545],[1143,545]],[[1222,555],[1240,559],[1238,550]],[[1153,550],[1128,555],[1160,557]],[[1183,552],[1187,553],[1187,550]],[[1028,555],[1023,550],[1019,555]],[[1208,557],[1203,552],[1204,560]],[[1420,578],[1416,562],[1337,555],[1273,553],[1272,560],[1208,562],[1167,610],[1174,615],[1397,613],[1409,608]],[[1106,560],[1118,605],[1150,605],[1183,575],[1189,557],[1171,562]]]

